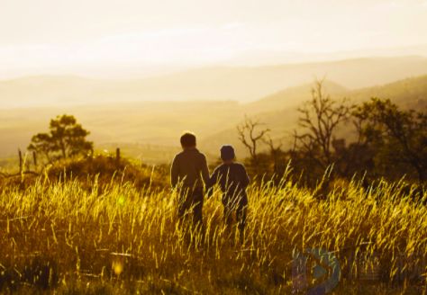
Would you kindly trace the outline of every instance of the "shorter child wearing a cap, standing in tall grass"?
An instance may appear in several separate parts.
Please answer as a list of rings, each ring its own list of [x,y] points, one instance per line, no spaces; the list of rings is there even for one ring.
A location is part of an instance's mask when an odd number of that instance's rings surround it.
[[[237,227],[244,233],[246,224],[246,207],[248,205],[248,195],[246,188],[250,183],[246,168],[240,163],[234,163],[234,148],[223,146],[221,148],[221,159],[223,164],[216,167],[209,180],[209,193],[213,192],[213,185],[219,183],[223,191],[222,202],[224,205],[223,219],[227,227],[232,227],[232,212],[236,211]],[[243,235],[241,235],[243,237]]]

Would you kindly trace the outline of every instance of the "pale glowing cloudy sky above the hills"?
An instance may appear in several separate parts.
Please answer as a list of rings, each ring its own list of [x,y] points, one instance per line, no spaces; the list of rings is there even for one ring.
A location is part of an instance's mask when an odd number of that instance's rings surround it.
[[[425,43],[427,0],[0,0],[0,78]]]

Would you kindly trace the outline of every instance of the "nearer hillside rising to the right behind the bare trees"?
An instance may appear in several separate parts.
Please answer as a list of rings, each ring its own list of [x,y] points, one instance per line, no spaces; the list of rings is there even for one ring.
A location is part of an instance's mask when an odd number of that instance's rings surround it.
[[[367,102],[371,97],[379,97],[390,99],[405,109],[425,112],[427,107],[427,75],[353,91],[346,90],[332,81],[325,81],[323,86],[332,98],[347,97],[354,103]],[[264,128],[268,127],[272,130],[270,133],[272,139],[281,139],[284,147],[291,148],[293,141],[290,132],[299,129],[297,124],[299,113],[296,108],[311,98],[312,87],[313,83],[288,88],[257,102],[243,104],[242,107],[246,107],[246,113],[250,113],[251,118],[265,123]],[[259,112],[255,112],[255,110],[259,110]],[[243,118],[241,118],[242,121]],[[204,138],[204,142],[211,142],[213,145],[232,144],[238,153],[247,156],[245,148],[237,139],[236,125],[207,136]],[[341,131],[339,130],[339,136],[346,138],[352,135],[349,134],[349,129],[344,127]]]

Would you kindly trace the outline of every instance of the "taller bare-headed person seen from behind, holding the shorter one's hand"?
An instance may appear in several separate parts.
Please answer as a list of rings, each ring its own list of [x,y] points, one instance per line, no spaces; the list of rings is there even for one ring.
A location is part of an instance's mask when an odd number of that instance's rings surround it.
[[[196,147],[195,134],[189,131],[181,136],[181,147],[183,151],[177,154],[170,169],[170,182],[172,188],[179,187],[178,218],[179,223],[189,212],[193,213],[193,225],[198,230],[202,230],[204,236],[203,223],[203,201],[204,184],[209,182],[209,168],[206,156],[199,152]]]

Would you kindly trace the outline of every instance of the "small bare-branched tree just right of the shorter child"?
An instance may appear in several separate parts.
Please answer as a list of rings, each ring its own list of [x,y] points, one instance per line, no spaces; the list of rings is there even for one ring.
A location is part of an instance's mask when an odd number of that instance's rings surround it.
[[[237,134],[239,135],[239,139],[250,152],[250,157],[255,166],[258,165],[257,143],[270,131],[269,129],[260,130],[259,133],[255,135],[255,130],[261,125],[264,124],[260,123],[259,121],[253,121],[248,118],[247,115],[245,115],[245,122],[237,126]],[[246,133],[249,133],[249,139],[246,138]]]

